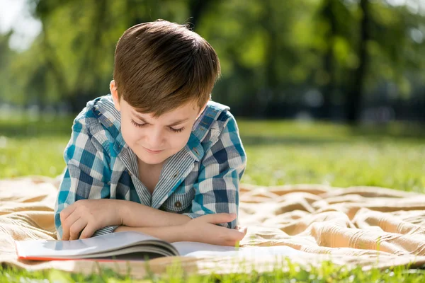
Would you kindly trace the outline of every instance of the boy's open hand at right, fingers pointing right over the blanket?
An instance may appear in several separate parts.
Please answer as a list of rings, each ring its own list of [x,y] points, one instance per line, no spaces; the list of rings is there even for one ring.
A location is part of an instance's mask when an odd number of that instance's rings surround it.
[[[246,227],[229,229],[216,224],[233,221],[236,214],[218,213],[199,216],[183,224],[190,240],[219,246],[236,246],[246,235]]]

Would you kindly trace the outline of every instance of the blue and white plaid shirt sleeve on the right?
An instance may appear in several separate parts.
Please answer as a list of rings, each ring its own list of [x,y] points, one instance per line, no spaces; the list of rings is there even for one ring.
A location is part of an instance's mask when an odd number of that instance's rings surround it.
[[[185,215],[196,218],[205,214],[235,213],[239,207],[239,183],[246,168],[246,154],[239,137],[236,120],[230,118],[217,141],[205,151],[200,163],[198,180],[191,212]],[[237,218],[227,224],[237,226]]]

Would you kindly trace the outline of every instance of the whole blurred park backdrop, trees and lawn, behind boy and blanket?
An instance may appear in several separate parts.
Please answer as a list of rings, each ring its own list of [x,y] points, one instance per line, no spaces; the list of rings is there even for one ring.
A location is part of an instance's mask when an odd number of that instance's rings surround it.
[[[0,0],[0,177],[59,174],[118,38],[159,18],[217,51],[244,182],[424,190],[424,0]]]

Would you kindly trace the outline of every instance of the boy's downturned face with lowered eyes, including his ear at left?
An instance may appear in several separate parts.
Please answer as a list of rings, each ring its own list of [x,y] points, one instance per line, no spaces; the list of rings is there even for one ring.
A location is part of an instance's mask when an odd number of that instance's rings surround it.
[[[139,113],[125,100],[118,101],[115,82],[111,82],[115,108],[121,112],[121,134],[140,161],[160,164],[186,146],[193,124],[201,111],[196,103],[188,103],[154,118]]]

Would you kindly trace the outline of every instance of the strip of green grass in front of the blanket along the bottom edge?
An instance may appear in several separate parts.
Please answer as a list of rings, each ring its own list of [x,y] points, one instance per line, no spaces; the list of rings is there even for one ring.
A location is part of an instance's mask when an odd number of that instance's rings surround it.
[[[356,267],[347,270],[337,267],[331,262],[322,262],[319,267],[311,270],[300,269],[289,260],[285,261],[287,270],[283,271],[276,266],[272,272],[251,272],[230,275],[210,274],[200,277],[199,275],[184,275],[179,267],[174,266],[167,270],[162,276],[149,275],[145,279],[135,280],[128,275],[117,275],[113,270],[102,270],[101,275],[68,274],[58,270],[42,270],[29,272],[27,270],[3,269],[0,267],[0,282],[173,282],[173,283],[195,283],[195,282],[424,282],[425,270],[409,270],[405,267],[395,267],[393,270],[373,269],[368,272]]]

